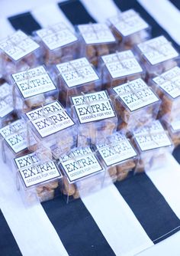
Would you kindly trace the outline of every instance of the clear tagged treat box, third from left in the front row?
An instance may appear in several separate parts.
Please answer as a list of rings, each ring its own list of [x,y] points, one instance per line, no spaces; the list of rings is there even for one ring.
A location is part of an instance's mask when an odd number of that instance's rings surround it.
[[[106,169],[105,183],[108,182],[109,176],[113,182],[126,179],[128,173],[136,166],[137,152],[121,132],[99,139],[94,149]]]

